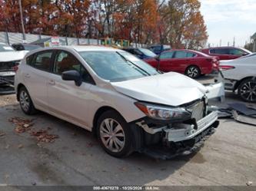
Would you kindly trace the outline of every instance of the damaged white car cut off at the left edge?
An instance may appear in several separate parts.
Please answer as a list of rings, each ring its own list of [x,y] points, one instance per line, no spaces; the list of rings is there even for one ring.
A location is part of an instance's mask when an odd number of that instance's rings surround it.
[[[0,43],[0,85],[13,84],[15,66],[28,51],[15,51],[10,45]]]

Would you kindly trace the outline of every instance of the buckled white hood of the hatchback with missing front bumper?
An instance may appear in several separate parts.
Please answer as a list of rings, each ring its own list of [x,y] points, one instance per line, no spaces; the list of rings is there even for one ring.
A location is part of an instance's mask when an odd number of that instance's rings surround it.
[[[178,106],[204,96],[207,88],[175,72],[142,77],[131,81],[111,82],[116,91],[137,100]]]

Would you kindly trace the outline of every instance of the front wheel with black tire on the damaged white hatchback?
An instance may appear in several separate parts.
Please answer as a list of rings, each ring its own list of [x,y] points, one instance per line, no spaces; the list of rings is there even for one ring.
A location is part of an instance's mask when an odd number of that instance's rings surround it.
[[[115,110],[108,110],[98,118],[97,135],[101,147],[111,156],[124,157],[133,151],[131,129]]]

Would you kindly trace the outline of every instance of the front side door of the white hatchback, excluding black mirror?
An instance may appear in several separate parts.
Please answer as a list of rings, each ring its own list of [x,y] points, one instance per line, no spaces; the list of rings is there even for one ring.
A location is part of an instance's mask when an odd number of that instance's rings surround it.
[[[80,61],[68,51],[58,51],[55,55],[53,73],[48,79],[48,104],[52,114],[88,127],[90,88],[95,84]],[[81,74],[82,84],[63,81],[62,72],[75,70]]]

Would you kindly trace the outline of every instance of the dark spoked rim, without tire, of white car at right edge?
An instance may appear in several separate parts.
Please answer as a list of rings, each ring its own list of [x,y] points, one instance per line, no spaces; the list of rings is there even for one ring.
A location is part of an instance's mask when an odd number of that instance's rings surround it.
[[[240,95],[244,100],[256,101],[256,82],[247,81],[240,87]]]

